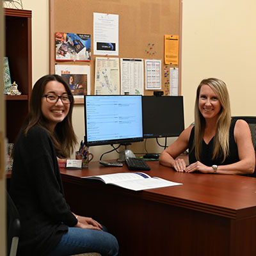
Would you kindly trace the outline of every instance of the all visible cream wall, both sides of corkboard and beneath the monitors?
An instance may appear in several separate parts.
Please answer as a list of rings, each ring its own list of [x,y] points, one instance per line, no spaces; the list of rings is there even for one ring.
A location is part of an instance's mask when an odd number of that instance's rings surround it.
[[[33,83],[48,70],[48,1],[23,0],[33,11]],[[157,3],[157,1],[156,1]],[[227,83],[232,115],[255,115],[256,2],[245,0],[183,0],[182,15],[182,95],[185,125],[193,122],[195,90],[205,77]],[[83,106],[76,105],[73,122],[78,140],[83,139]],[[163,145],[164,141],[159,140]],[[168,139],[170,144],[173,139]],[[110,146],[92,147],[98,160]],[[147,140],[148,152],[161,152],[155,139]],[[134,143],[134,152],[144,152],[144,143]],[[104,159],[113,159],[116,153]]]

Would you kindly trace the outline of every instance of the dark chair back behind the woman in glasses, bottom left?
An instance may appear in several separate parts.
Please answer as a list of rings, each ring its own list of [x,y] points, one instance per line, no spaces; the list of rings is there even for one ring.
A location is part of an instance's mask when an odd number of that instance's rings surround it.
[[[9,256],[15,256],[19,243],[20,217],[11,196],[6,191],[7,202],[7,252]]]

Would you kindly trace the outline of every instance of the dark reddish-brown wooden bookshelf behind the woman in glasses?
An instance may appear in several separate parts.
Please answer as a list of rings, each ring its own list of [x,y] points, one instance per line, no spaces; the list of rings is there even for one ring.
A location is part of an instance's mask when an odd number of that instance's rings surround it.
[[[32,90],[31,18],[29,10],[4,8],[5,56],[8,57],[12,83],[21,95],[5,95],[6,137],[15,142],[28,111]]]

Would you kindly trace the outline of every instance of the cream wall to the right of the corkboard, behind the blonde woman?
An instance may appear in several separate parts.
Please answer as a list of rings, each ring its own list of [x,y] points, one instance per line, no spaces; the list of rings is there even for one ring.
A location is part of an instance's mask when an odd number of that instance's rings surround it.
[[[196,87],[206,77],[228,86],[232,115],[256,115],[254,0],[183,0],[182,95],[193,122]]]

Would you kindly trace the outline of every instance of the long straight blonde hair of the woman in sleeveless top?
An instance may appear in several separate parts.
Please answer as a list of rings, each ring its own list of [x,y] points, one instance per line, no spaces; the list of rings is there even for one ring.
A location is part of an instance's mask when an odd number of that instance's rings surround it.
[[[193,145],[193,148],[195,148],[195,156],[196,159],[200,161],[200,153],[202,151],[202,141],[205,129],[205,118],[200,113],[198,102],[200,90],[204,84],[207,84],[212,90],[214,90],[221,104],[221,110],[216,124],[216,134],[214,136],[214,151],[212,154],[212,160],[222,155],[223,161],[225,161],[229,152],[229,129],[231,124],[230,100],[226,84],[217,78],[208,78],[202,80],[196,90],[195,138]]]

